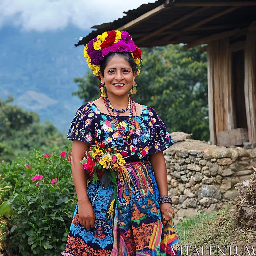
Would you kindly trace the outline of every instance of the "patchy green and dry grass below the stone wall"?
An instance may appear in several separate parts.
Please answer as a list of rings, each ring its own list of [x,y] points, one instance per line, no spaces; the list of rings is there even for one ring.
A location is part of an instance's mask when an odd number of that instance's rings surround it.
[[[227,205],[228,207],[228,205]],[[256,242],[256,230],[243,229],[235,225],[231,209],[223,209],[207,214],[197,213],[177,225],[181,245],[186,246],[223,246],[253,245]]]

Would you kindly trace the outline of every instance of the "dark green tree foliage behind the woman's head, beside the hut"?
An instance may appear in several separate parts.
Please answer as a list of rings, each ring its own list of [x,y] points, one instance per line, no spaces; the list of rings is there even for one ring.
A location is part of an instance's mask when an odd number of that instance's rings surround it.
[[[193,139],[209,140],[207,57],[198,47],[181,45],[143,49],[140,75],[136,77],[138,103],[153,107],[169,132],[193,133]],[[84,102],[95,100],[97,79],[91,71],[74,80],[74,95]]]

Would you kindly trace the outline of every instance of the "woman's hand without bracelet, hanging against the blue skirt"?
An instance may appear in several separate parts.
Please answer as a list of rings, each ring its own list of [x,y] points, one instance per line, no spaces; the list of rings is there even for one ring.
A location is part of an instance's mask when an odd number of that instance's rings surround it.
[[[89,201],[78,203],[78,215],[79,222],[84,228],[94,228],[95,213]]]

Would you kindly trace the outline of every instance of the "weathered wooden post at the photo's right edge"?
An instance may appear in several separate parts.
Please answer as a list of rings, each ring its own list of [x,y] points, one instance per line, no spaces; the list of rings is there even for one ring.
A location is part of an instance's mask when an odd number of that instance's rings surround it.
[[[256,141],[256,33],[246,34],[244,48],[244,94],[249,141]]]

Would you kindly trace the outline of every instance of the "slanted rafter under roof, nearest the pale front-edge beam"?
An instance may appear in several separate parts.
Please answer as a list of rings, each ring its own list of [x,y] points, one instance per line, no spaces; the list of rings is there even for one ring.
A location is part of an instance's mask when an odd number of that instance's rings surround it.
[[[136,44],[140,44],[144,41],[146,41],[147,39],[151,38],[152,36],[156,36],[158,34],[160,34],[161,32],[163,32],[164,30],[166,29],[169,29],[177,24],[179,24],[180,22],[184,21],[184,20],[187,20],[188,18],[191,18],[193,16],[195,16],[196,14],[198,14],[199,12],[204,12],[206,9],[208,9],[208,7],[203,7],[203,8],[199,8],[193,12],[189,12],[188,14],[180,17],[179,19],[177,20],[174,20],[172,21],[171,23],[169,24],[166,24],[165,26],[161,27],[161,28],[158,28],[157,30],[155,30],[154,32],[148,34],[148,36],[145,36],[145,37],[142,37],[140,40],[137,40],[136,41]]]

